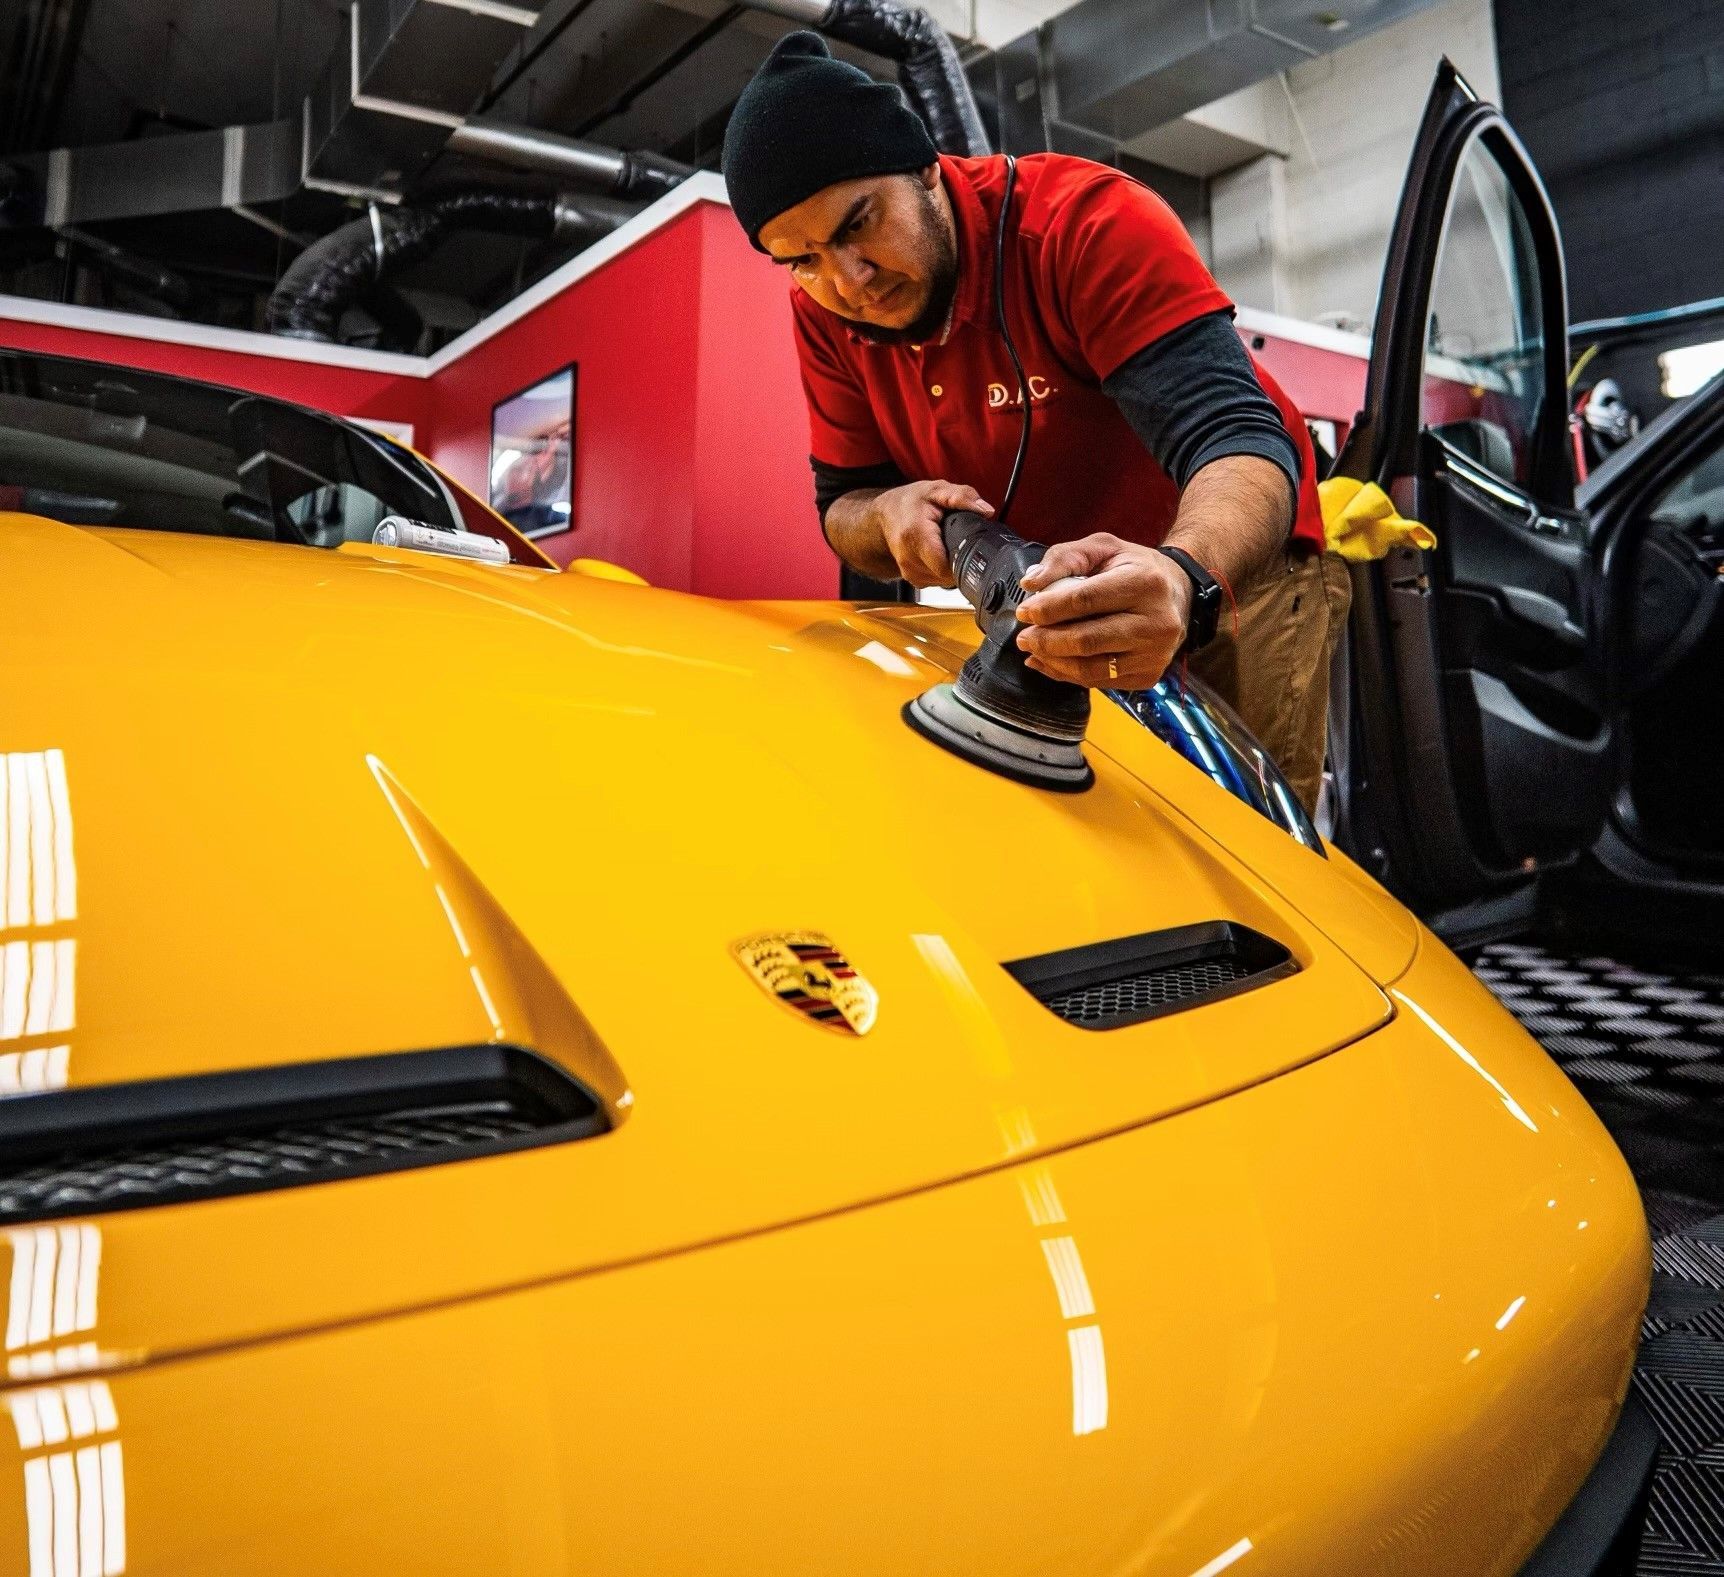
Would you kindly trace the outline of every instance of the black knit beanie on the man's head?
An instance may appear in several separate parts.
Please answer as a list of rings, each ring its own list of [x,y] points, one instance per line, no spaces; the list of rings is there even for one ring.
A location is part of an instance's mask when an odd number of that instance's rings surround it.
[[[724,184],[757,252],[760,226],[815,191],[928,169],[940,155],[903,93],[788,33],[743,88],[724,131]]]

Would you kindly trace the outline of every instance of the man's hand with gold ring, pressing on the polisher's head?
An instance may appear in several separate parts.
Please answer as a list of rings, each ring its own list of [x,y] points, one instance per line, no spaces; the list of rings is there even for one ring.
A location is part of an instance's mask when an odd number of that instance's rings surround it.
[[[1191,617],[1186,572],[1165,553],[1105,531],[1055,543],[1024,576],[1024,591],[1034,595],[1017,608],[1028,626],[1017,645],[1029,667],[1091,689],[1148,689],[1167,672]]]

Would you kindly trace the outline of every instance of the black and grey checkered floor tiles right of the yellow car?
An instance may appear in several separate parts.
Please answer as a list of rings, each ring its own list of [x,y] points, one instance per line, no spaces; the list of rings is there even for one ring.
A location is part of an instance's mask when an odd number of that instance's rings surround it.
[[[1652,1224],[1634,1389],[1664,1436],[1641,1577],[1724,1577],[1724,972],[1500,943],[1472,962],[1605,1120]]]

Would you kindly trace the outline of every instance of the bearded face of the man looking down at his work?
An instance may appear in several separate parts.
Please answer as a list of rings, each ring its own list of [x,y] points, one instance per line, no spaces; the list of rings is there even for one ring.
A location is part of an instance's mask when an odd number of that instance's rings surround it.
[[[874,340],[938,334],[952,305],[957,245],[938,164],[815,191],[764,224],[760,245]]]

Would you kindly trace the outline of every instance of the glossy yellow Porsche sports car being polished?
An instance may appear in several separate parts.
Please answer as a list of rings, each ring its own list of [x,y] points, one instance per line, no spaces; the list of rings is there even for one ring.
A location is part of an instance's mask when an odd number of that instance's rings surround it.
[[[1627,1169],[1200,693],[88,364],[0,508],[0,1568],[1626,1570]]]

